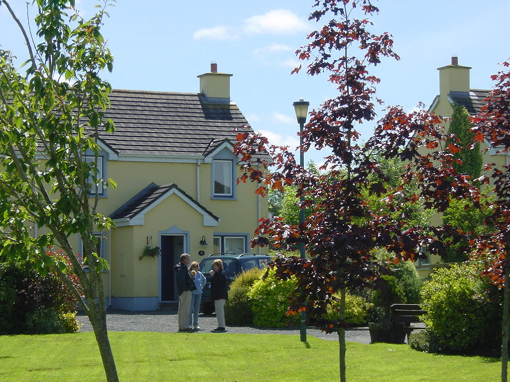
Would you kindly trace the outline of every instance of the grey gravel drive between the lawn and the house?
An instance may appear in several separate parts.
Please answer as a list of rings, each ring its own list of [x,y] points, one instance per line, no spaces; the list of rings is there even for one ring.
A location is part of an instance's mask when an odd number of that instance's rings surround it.
[[[80,332],[91,332],[92,326],[89,319],[83,314],[77,315],[78,321],[83,324]],[[165,311],[150,312],[129,312],[112,311],[107,315],[108,330],[114,332],[177,332],[177,314]],[[216,326],[216,316],[200,314],[198,325],[201,331],[197,333],[211,332]],[[265,334],[287,334],[299,336],[299,328],[254,328],[251,326],[228,326],[227,333],[265,333]],[[322,338],[328,341],[338,341],[338,335],[325,334],[315,328],[307,328],[307,335]],[[345,340],[350,342],[370,343],[368,328],[352,328],[345,332]]]

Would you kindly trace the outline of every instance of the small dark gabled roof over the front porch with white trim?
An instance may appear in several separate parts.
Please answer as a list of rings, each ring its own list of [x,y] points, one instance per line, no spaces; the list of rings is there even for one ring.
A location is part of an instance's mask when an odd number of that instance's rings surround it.
[[[202,206],[191,196],[186,194],[182,188],[179,188],[175,183],[157,185],[156,183],[150,183],[147,187],[142,189],[133,198],[128,200],[124,205],[114,211],[110,217],[111,219],[133,219],[142,211],[149,208],[152,204],[157,203],[160,198],[163,198],[170,190],[176,189],[183,194],[189,202],[195,204],[203,212],[209,214],[213,219],[219,221],[219,217],[209,211],[206,207]]]

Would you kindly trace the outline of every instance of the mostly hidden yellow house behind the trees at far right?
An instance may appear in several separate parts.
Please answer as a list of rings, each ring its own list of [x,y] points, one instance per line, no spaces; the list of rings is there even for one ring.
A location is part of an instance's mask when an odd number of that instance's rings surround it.
[[[469,71],[471,67],[458,65],[458,58],[452,57],[450,65],[442,66],[439,70],[439,95],[437,95],[428,108],[429,112],[451,117],[453,109],[452,103],[457,103],[466,107],[471,116],[475,116],[483,105],[483,100],[489,95],[489,90],[471,89],[469,85]],[[483,146],[483,145],[482,145]],[[485,145],[481,149],[487,149]],[[508,157],[505,154],[497,153],[494,148],[490,148],[483,155],[483,164],[496,163],[504,165],[508,163]],[[441,224],[442,216],[432,217],[432,224]],[[426,277],[430,271],[437,266],[444,265],[441,258],[437,255],[429,255],[425,261],[419,261],[417,269],[421,277]]]

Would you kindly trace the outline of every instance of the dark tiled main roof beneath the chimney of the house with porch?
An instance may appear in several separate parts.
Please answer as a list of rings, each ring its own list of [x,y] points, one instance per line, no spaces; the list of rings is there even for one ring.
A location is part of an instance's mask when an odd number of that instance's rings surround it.
[[[105,115],[115,132],[100,139],[120,155],[201,156],[225,138],[234,144],[233,129],[246,118],[233,102],[205,101],[199,93],[113,90]]]

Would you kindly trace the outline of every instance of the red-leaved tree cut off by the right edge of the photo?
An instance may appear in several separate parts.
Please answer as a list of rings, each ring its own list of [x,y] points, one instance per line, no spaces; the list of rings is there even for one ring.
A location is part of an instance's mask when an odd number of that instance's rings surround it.
[[[502,64],[510,66],[510,60]],[[510,70],[505,69],[492,76],[496,84],[486,99],[480,113],[474,118],[474,132],[479,142],[485,140],[490,147],[501,153],[510,150]],[[486,217],[485,224],[491,227],[490,233],[479,235],[471,240],[471,247],[478,256],[492,260],[484,274],[491,277],[491,281],[503,288],[503,318],[501,332],[501,380],[507,381],[508,362],[508,280],[510,280],[510,166],[497,167],[494,163],[486,166],[488,175],[486,183],[491,178],[492,199],[488,200],[491,211]]]

